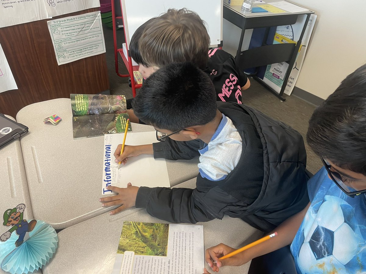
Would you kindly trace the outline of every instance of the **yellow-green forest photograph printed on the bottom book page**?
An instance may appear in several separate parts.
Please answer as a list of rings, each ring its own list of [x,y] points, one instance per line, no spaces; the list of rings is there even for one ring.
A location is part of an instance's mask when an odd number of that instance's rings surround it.
[[[117,253],[167,256],[169,224],[124,222]]]

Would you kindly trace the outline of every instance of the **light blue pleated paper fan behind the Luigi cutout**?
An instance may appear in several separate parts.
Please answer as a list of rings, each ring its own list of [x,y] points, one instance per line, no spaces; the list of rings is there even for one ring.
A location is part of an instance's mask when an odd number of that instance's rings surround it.
[[[7,241],[0,241],[1,269],[12,274],[33,272],[40,269],[55,254],[58,238],[51,225],[37,220],[29,238],[19,246],[15,246],[18,235],[11,233]]]

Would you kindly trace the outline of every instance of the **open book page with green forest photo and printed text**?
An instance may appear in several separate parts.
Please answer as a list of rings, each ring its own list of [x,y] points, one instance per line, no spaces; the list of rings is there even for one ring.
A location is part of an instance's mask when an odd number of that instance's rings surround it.
[[[124,222],[112,274],[197,274],[203,226]]]

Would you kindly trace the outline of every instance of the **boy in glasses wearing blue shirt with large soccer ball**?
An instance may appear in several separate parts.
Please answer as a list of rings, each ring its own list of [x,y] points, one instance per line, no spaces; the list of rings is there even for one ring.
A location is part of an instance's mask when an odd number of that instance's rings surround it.
[[[324,164],[308,182],[311,202],[267,242],[224,260],[219,258],[233,248],[219,244],[206,250],[214,271],[255,258],[251,273],[295,273],[276,268],[292,243],[289,257],[297,273],[366,272],[366,65],[348,75],[314,111],[307,141]],[[269,261],[276,263],[266,265]]]

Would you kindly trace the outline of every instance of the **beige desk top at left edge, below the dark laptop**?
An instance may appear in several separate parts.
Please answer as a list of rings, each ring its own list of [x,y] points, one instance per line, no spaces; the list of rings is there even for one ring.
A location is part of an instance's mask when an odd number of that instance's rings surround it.
[[[14,120],[11,116],[5,116]],[[33,219],[19,139],[12,141],[10,144],[0,149],[0,174],[0,209],[3,210],[0,212],[1,217],[5,210],[15,208],[19,203],[24,203],[26,207],[24,209],[23,217],[28,220]],[[2,224],[3,219],[1,218],[0,235],[9,229],[9,227],[5,227]],[[0,274],[5,273],[8,272],[5,272],[0,268]],[[34,273],[42,273],[42,271],[39,270]]]

